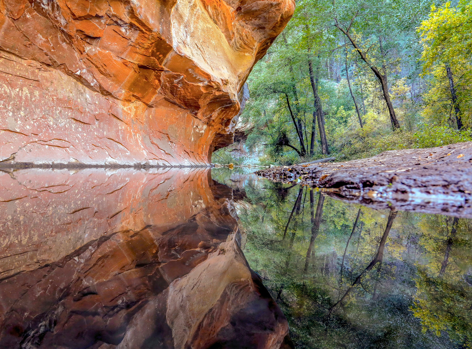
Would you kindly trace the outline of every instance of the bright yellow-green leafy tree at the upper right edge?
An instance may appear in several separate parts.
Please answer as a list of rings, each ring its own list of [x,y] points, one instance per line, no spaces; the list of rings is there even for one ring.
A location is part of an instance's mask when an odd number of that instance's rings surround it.
[[[440,7],[431,6],[429,18],[418,28],[423,46],[423,75],[430,76],[423,113],[427,119],[441,125],[454,125],[450,81],[446,75],[449,67],[462,122],[466,127],[472,126],[469,112],[472,106],[471,17],[472,4],[469,1],[461,0],[456,7],[446,2]]]

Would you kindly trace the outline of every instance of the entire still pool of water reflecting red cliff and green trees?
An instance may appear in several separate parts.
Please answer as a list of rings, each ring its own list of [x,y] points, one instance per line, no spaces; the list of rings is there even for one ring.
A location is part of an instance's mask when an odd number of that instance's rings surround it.
[[[0,212],[0,348],[471,345],[470,218],[225,168],[4,171]]]

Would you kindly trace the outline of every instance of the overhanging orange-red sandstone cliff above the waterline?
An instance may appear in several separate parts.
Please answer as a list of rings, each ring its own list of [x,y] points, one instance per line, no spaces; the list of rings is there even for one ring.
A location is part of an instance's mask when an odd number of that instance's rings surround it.
[[[0,161],[202,165],[293,0],[0,0]]]

